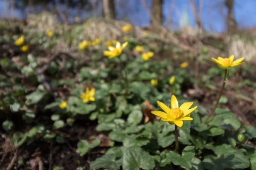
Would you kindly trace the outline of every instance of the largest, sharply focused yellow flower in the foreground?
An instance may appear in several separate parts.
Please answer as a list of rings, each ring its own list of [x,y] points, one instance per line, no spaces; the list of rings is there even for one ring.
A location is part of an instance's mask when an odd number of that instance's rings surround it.
[[[151,111],[151,113],[161,117],[161,120],[167,121],[171,125],[175,124],[178,127],[181,127],[183,125],[183,121],[185,120],[193,120],[193,118],[190,117],[190,113],[195,111],[197,108],[197,106],[195,106],[194,108],[189,109],[193,105],[193,102],[185,102],[179,107],[178,101],[174,95],[172,95],[171,98],[171,105],[166,106],[159,101],[157,101],[157,104],[166,113],[162,111]]]

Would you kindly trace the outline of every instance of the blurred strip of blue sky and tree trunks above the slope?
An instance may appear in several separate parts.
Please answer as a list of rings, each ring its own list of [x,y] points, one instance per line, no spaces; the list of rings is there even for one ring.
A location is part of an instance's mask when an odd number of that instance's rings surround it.
[[[0,0],[0,16],[26,19],[48,11],[64,23],[105,17],[142,27],[156,20],[171,30],[227,32],[256,26],[255,7],[255,0]]]

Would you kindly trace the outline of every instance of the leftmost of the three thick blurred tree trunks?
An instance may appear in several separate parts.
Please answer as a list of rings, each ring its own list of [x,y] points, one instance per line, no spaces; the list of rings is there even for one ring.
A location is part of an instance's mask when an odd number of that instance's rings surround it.
[[[102,0],[102,10],[105,19],[115,19],[115,3],[114,0]]]

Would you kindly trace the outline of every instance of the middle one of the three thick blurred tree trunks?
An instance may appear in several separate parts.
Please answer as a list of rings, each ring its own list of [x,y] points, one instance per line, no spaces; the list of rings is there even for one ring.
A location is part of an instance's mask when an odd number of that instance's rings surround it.
[[[157,30],[163,23],[162,6],[163,0],[153,0],[151,12],[151,26],[153,30]]]

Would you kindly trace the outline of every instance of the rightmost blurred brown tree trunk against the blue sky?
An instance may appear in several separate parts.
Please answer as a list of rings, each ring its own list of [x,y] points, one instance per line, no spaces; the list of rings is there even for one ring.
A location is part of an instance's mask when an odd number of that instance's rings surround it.
[[[227,31],[233,33],[237,30],[237,23],[234,17],[234,0],[226,0],[225,5],[227,6]]]

